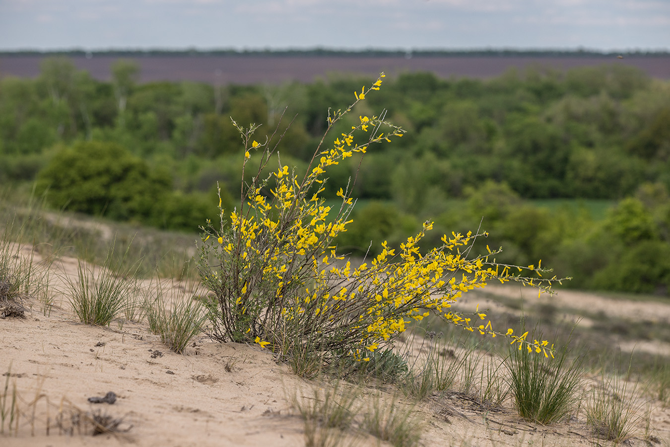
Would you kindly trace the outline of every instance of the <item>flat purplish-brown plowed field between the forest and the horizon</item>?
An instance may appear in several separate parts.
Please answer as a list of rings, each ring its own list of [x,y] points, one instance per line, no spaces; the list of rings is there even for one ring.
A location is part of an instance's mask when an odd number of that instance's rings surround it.
[[[34,77],[46,56],[2,56],[0,76]],[[110,66],[120,56],[70,56],[81,70],[99,80],[111,79]],[[567,70],[579,66],[624,64],[641,68],[653,78],[670,79],[670,56],[145,56],[125,57],[141,67],[141,82],[192,80],[210,84],[257,84],[298,80],[312,82],[330,74],[366,77],[401,72],[429,71],[442,78],[498,76],[511,67],[552,67]]]

